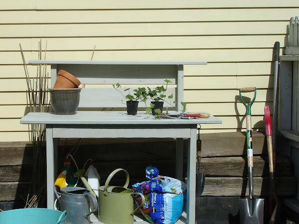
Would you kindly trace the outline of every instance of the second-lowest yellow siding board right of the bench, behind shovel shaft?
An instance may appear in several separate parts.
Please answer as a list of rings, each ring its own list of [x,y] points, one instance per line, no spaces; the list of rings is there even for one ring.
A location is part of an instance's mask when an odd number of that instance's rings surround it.
[[[254,102],[251,113],[253,115],[263,115],[264,107],[268,105],[270,107],[270,111],[273,111],[273,103],[272,102]],[[223,115],[243,115],[246,113],[245,106],[240,102],[232,102],[232,103],[194,103],[187,104],[188,112],[209,112],[215,116],[223,116]]]

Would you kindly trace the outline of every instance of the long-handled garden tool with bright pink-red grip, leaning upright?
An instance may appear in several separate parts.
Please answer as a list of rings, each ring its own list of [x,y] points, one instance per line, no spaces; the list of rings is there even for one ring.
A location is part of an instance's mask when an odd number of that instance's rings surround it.
[[[272,142],[272,125],[269,107],[265,106],[265,128],[268,143],[268,160],[269,160],[269,174],[270,174],[270,198],[269,198],[269,215],[270,224],[279,222],[281,203],[279,202],[275,193],[275,175],[274,175],[274,165],[273,165],[273,142]],[[274,205],[276,206],[274,208]]]

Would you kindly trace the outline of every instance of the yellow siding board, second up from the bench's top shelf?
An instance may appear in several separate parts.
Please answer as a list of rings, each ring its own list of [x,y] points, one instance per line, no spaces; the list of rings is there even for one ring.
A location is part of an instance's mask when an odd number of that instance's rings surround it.
[[[126,50],[126,49],[221,49],[221,48],[273,48],[275,41],[283,42],[286,35],[257,36],[160,36],[160,37],[93,37],[93,38],[42,38],[42,49],[47,50]],[[1,50],[23,50],[38,47],[40,38],[0,39]],[[22,41],[25,42],[24,46]]]

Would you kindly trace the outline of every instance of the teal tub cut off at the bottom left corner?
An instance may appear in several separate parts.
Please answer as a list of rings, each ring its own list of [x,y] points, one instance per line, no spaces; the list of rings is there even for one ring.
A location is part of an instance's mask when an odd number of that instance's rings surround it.
[[[14,209],[0,212],[0,224],[64,224],[66,211],[52,209]]]

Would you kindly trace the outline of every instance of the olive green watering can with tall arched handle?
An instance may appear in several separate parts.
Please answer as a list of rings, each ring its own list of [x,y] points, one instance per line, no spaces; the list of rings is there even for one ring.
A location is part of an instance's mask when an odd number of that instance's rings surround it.
[[[108,186],[111,178],[119,171],[125,171],[127,180],[124,187]],[[128,189],[129,173],[124,169],[114,170],[106,180],[105,186],[99,187],[99,221],[106,224],[133,224],[134,213],[144,205],[145,197]],[[142,204],[134,210],[133,196],[140,195]]]

